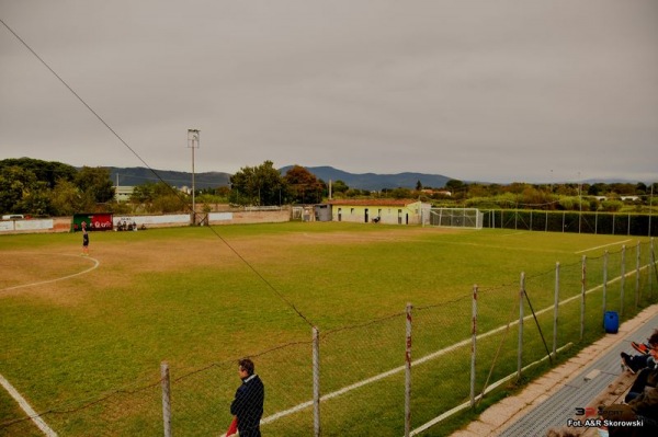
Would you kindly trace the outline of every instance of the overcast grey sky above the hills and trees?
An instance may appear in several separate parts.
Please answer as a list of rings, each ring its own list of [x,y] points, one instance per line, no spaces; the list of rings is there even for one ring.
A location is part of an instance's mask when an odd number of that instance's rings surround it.
[[[658,182],[656,0],[0,0],[0,159]]]

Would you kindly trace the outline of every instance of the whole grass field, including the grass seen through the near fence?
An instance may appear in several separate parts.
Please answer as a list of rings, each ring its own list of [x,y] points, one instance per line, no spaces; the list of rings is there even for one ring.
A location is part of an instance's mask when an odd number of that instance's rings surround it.
[[[407,302],[417,308],[413,357],[419,358],[468,338],[474,284],[483,295],[484,332],[501,325],[510,314],[512,320],[518,317],[521,272],[531,278],[529,295],[538,310],[553,302],[556,262],[563,265],[560,296],[574,296],[580,292],[582,254],[577,252],[605,246],[588,252],[588,257],[600,257],[608,249],[613,253],[612,275],[620,268],[620,246],[608,244],[625,240],[352,223],[252,225],[214,231],[92,233],[91,256],[100,266],[88,274],[10,291],[4,289],[18,285],[18,279],[0,278],[0,342],[5,345],[0,373],[37,411],[55,410],[45,419],[63,435],[127,435],[137,429],[151,434],[161,430],[158,379],[160,363],[167,360],[178,402],[174,432],[207,435],[228,424],[238,357],[256,356],[257,370],[268,386],[265,415],[310,399],[307,322],[322,335],[322,392],[328,393],[404,364],[401,313]],[[73,267],[89,268],[90,260],[69,256],[79,249],[79,234],[2,235],[0,266],[24,269],[25,284],[54,279]],[[160,268],[161,262],[149,264],[154,257],[174,262]],[[21,261],[18,267],[10,258]],[[635,258],[627,256],[626,265],[626,272],[635,268]],[[628,290],[631,286],[634,279],[626,280]],[[610,304],[617,303],[611,297]],[[588,307],[592,309],[589,332],[600,332],[598,306]],[[627,291],[628,314],[633,307],[634,291]],[[377,319],[384,320],[370,323]],[[545,323],[543,329],[549,330]],[[574,338],[579,326],[560,329],[564,343]],[[536,336],[529,343],[529,359],[541,357],[543,345]],[[264,354],[281,345],[287,346]],[[491,347],[497,347],[494,341]],[[514,356],[513,344],[506,346],[506,354]],[[419,381],[427,379],[427,386],[453,395],[440,401],[431,391],[416,390],[416,426],[421,417],[430,419],[464,400],[466,358],[458,369],[443,359],[428,365],[431,371],[418,370]],[[194,373],[198,369],[204,370]],[[510,371],[513,366],[497,367],[499,376]],[[486,378],[488,368],[483,364],[479,372],[478,378]],[[328,435],[345,424],[352,429],[363,427],[367,434],[373,423],[378,435],[399,435],[400,378],[401,373],[329,401],[322,416]],[[117,389],[125,390],[116,393]],[[87,406],[109,394],[107,400]],[[4,405],[5,396],[0,402]],[[367,406],[354,416],[351,402]],[[279,429],[308,435],[309,414],[305,411],[265,426],[273,435]],[[0,435],[1,429],[0,425]]]

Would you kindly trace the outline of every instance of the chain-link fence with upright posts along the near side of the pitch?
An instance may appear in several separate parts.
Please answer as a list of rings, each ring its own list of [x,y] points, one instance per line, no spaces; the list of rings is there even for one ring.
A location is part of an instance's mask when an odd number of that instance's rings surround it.
[[[447,434],[447,417],[527,367],[591,343],[604,333],[606,312],[628,319],[657,302],[657,290],[651,241],[520,273],[496,287],[475,285],[451,301],[439,297],[351,326],[315,327],[307,342],[250,356],[265,384],[261,430]],[[237,357],[193,369],[162,363],[143,381],[80,402],[27,416],[4,409],[0,436],[223,436],[239,382]]]

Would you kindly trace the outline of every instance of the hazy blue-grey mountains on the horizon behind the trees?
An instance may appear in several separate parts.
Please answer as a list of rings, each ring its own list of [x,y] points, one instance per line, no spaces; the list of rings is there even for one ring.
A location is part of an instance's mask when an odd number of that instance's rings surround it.
[[[285,174],[293,165],[286,165],[279,171]],[[418,181],[423,186],[443,187],[451,180],[440,174],[426,173],[398,173],[398,174],[375,174],[375,173],[348,173],[332,166],[307,166],[309,172],[318,179],[329,183],[329,181],[342,181],[351,188],[377,191],[384,188],[416,188]],[[175,172],[170,170],[150,170],[141,166],[137,168],[116,168],[111,166],[110,177],[115,185],[134,186],[143,185],[147,182],[167,182],[172,186],[192,186],[192,173]],[[157,175],[156,175],[157,173]],[[194,186],[197,189],[216,188],[229,184],[229,173],[206,172],[194,174]]]

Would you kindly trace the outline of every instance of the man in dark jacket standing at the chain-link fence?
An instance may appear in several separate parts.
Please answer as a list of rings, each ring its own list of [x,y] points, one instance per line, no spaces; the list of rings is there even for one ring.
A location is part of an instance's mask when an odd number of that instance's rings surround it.
[[[238,416],[240,437],[260,437],[260,419],[263,415],[265,388],[259,376],[253,372],[253,361],[245,358],[238,363],[238,372],[242,384],[236,391],[230,404],[230,414]]]

